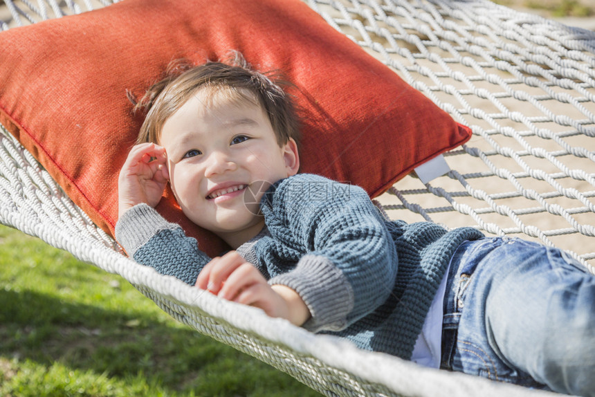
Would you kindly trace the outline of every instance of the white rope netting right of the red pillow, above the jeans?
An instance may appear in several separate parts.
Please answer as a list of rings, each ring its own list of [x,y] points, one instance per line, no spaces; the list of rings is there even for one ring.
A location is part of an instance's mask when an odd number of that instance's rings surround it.
[[[392,218],[538,239],[593,270],[595,33],[484,1],[311,6],[473,128],[448,176],[381,197]]]

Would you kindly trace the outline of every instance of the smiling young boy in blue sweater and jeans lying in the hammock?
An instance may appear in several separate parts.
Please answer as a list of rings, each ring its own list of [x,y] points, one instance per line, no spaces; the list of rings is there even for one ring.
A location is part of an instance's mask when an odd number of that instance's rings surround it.
[[[239,56],[172,73],[137,106],[116,225],[136,261],[363,349],[595,396],[595,277],[564,252],[388,221],[359,187],[297,174],[291,100]],[[153,209],[168,182],[232,251],[209,258]]]

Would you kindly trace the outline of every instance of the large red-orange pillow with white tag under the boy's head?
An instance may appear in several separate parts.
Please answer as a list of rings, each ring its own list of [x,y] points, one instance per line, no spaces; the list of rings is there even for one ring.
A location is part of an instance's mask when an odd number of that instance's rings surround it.
[[[126,0],[0,33],[0,122],[68,196],[113,233],[118,172],[136,139],[137,97],[173,59],[239,50],[280,70],[304,110],[302,172],[385,191],[470,138],[393,71],[299,0]],[[188,221],[170,192],[158,205],[210,255],[223,242]]]

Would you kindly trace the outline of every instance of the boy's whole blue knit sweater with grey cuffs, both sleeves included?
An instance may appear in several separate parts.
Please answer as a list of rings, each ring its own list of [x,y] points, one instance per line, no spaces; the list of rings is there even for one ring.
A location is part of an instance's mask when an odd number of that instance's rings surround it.
[[[273,185],[261,201],[266,227],[237,251],[270,284],[293,288],[311,312],[304,328],[410,359],[450,257],[483,234],[434,223],[388,221],[360,187],[312,174]],[[136,261],[193,285],[210,261],[148,205],[116,225]]]

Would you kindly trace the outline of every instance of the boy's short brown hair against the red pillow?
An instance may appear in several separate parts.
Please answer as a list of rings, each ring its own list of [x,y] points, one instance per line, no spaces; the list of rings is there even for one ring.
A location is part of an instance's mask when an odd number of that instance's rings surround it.
[[[213,92],[221,91],[233,99],[248,100],[262,107],[280,146],[288,142],[289,138],[299,141],[295,105],[291,96],[281,88],[289,83],[275,79],[273,73],[253,70],[237,51],[231,53],[227,62],[208,61],[194,66],[185,60],[177,60],[168,66],[165,75],[138,102],[129,94],[134,111],[147,112],[136,143],[158,143],[167,119],[196,91],[204,88],[212,89]],[[246,90],[251,95],[246,95]]]

